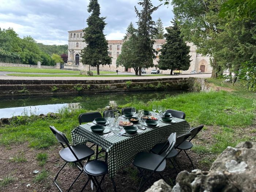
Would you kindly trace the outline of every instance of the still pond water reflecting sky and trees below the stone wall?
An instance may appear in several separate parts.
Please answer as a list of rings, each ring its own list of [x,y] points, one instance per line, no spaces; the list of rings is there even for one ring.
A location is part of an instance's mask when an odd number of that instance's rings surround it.
[[[71,109],[97,110],[109,105],[124,105],[139,100],[147,102],[153,99],[163,99],[166,95],[180,94],[187,91],[157,91],[157,92],[130,92],[130,93],[104,93],[86,95],[64,95],[46,97],[19,97],[0,98],[0,118],[27,114],[47,114],[57,112],[67,107]]]

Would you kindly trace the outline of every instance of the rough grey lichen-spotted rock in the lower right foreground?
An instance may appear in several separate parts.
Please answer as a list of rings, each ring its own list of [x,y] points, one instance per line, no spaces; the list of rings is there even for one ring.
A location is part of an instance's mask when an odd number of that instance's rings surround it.
[[[208,172],[180,172],[172,192],[256,192],[256,143],[227,147]]]

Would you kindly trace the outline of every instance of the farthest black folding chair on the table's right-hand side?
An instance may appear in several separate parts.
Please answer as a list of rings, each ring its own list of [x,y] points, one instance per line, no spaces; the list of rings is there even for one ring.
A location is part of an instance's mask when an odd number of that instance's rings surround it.
[[[191,158],[190,158],[189,155],[187,154],[186,150],[189,150],[189,149],[191,149],[191,148],[193,147],[193,143],[191,143],[191,140],[192,140],[193,138],[195,138],[195,136],[197,135],[197,133],[199,133],[199,132],[203,129],[203,127],[204,127],[204,125],[200,125],[200,126],[198,126],[198,127],[194,127],[194,128],[189,129],[189,131],[188,131],[187,133],[190,133],[190,134],[191,134],[191,135],[190,135],[190,136],[191,136],[191,139],[189,139],[189,140],[184,140],[183,142],[181,142],[181,140],[177,140],[176,146],[175,146],[175,148],[177,148],[178,150],[180,150],[180,151],[178,152],[178,154],[179,154],[181,151],[184,151],[184,152],[185,152],[185,154],[187,155],[189,161],[191,162],[191,165],[192,165],[193,169],[195,169],[195,167],[194,167],[194,165],[193,165],[193,162],[192,162]],[[181,142],[181,143],[179,143],[179,142]]]

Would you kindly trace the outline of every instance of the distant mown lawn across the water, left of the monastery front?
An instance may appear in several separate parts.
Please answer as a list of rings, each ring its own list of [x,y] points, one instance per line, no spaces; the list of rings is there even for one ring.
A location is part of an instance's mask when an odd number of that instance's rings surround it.
[[[80,71],[61,70],[61,69],[37,69],[37,68],[27,68],[27,67],[0,67],[0,71],[20,72],[20,73],[80,74]],[[93,71],[93,73],[95,74],[95,73],[97,73],[97,71]],[[100,73],[101,74],[115,74],[116,72],[100,71]],[[26,76],[26,75],[31,75],[31,74],[24,74],[24,75]]]

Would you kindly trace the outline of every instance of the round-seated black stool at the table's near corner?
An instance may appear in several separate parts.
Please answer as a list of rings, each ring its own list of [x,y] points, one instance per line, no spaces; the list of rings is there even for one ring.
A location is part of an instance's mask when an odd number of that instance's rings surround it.
[[[88,180],[86,181],[85,185],[83,186],[83,189],[81,192],[84,190],[88,182],[91,180],[93,181],[93,184],[96,187],[96,191],[101,189],[101,183],[105,177],[105,175],[108,173],[108,164],[105,161],[99,161],[99,160],[93,160],[87,162],[84,167],[83,167],[84,173],[89,177]],[[98,182],[97,177],[101,177],[101,180]]]

